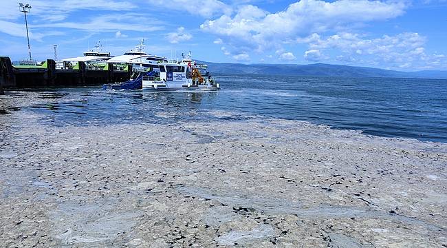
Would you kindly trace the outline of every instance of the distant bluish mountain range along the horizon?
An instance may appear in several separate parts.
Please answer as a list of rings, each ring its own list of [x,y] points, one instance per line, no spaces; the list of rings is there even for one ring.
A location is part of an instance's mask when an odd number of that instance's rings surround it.
[[[447,79],[447,71],[424,70],[418,72],[400,72],[378,68],[357,67],[348,65],[330,65],[315,63],[311,65],[282,65],[282,64],[240,64],[240,63],[212,63],[208,70],[214,73],[228,74],[263,74],[287,76],[347,76],[347,77],[398,77]]]

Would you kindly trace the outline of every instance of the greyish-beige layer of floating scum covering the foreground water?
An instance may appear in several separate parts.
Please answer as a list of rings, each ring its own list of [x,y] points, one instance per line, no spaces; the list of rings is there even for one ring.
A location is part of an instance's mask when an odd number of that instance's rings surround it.
[[[447,246],[445,143],[265,118],[46,125],[38,95],[0,96],[2,246]]]

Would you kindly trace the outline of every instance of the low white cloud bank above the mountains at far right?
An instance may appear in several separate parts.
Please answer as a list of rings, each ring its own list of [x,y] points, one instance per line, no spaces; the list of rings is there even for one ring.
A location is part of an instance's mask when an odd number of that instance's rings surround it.
[[[342,32],[325,39],[312,34],[302,41],[309,41],[310,50],[305,52],[307,61],[329,59],[323,52],[335,54],[336,61],[362,62],[365,65],[391,65],[393,68],[422,68],[429,63],[441,63],[443,54],[429,55],[424,45],[426,37],[417,33],[404,32],[395,36],[384,35],[367,39],[360,34]]]

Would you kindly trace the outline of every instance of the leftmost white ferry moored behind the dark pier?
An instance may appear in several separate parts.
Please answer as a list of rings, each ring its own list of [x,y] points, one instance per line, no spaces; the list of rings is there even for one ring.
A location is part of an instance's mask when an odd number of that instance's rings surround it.
[[[56,62],[56,68],[71,69],[74,68],[78,62],[84,62],[90,70],[102,70],[109,59],[113,58],[113,56],[110,55],[110,52],[102,52],[100,41],[95,44],[94,49],[84,52],[83,55],[84,56],[61,59],[61,61]]]

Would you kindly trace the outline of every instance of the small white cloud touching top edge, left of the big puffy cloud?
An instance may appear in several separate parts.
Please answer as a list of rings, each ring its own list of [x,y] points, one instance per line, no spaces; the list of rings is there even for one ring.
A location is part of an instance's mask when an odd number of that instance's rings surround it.
[[[212,17],[215,14],[231,14],[232,9],[225,3],[217,0],[148,0],[154,8],[163,8],[164,10],[176,10],[178,12],[189,12],[201,17]]]

